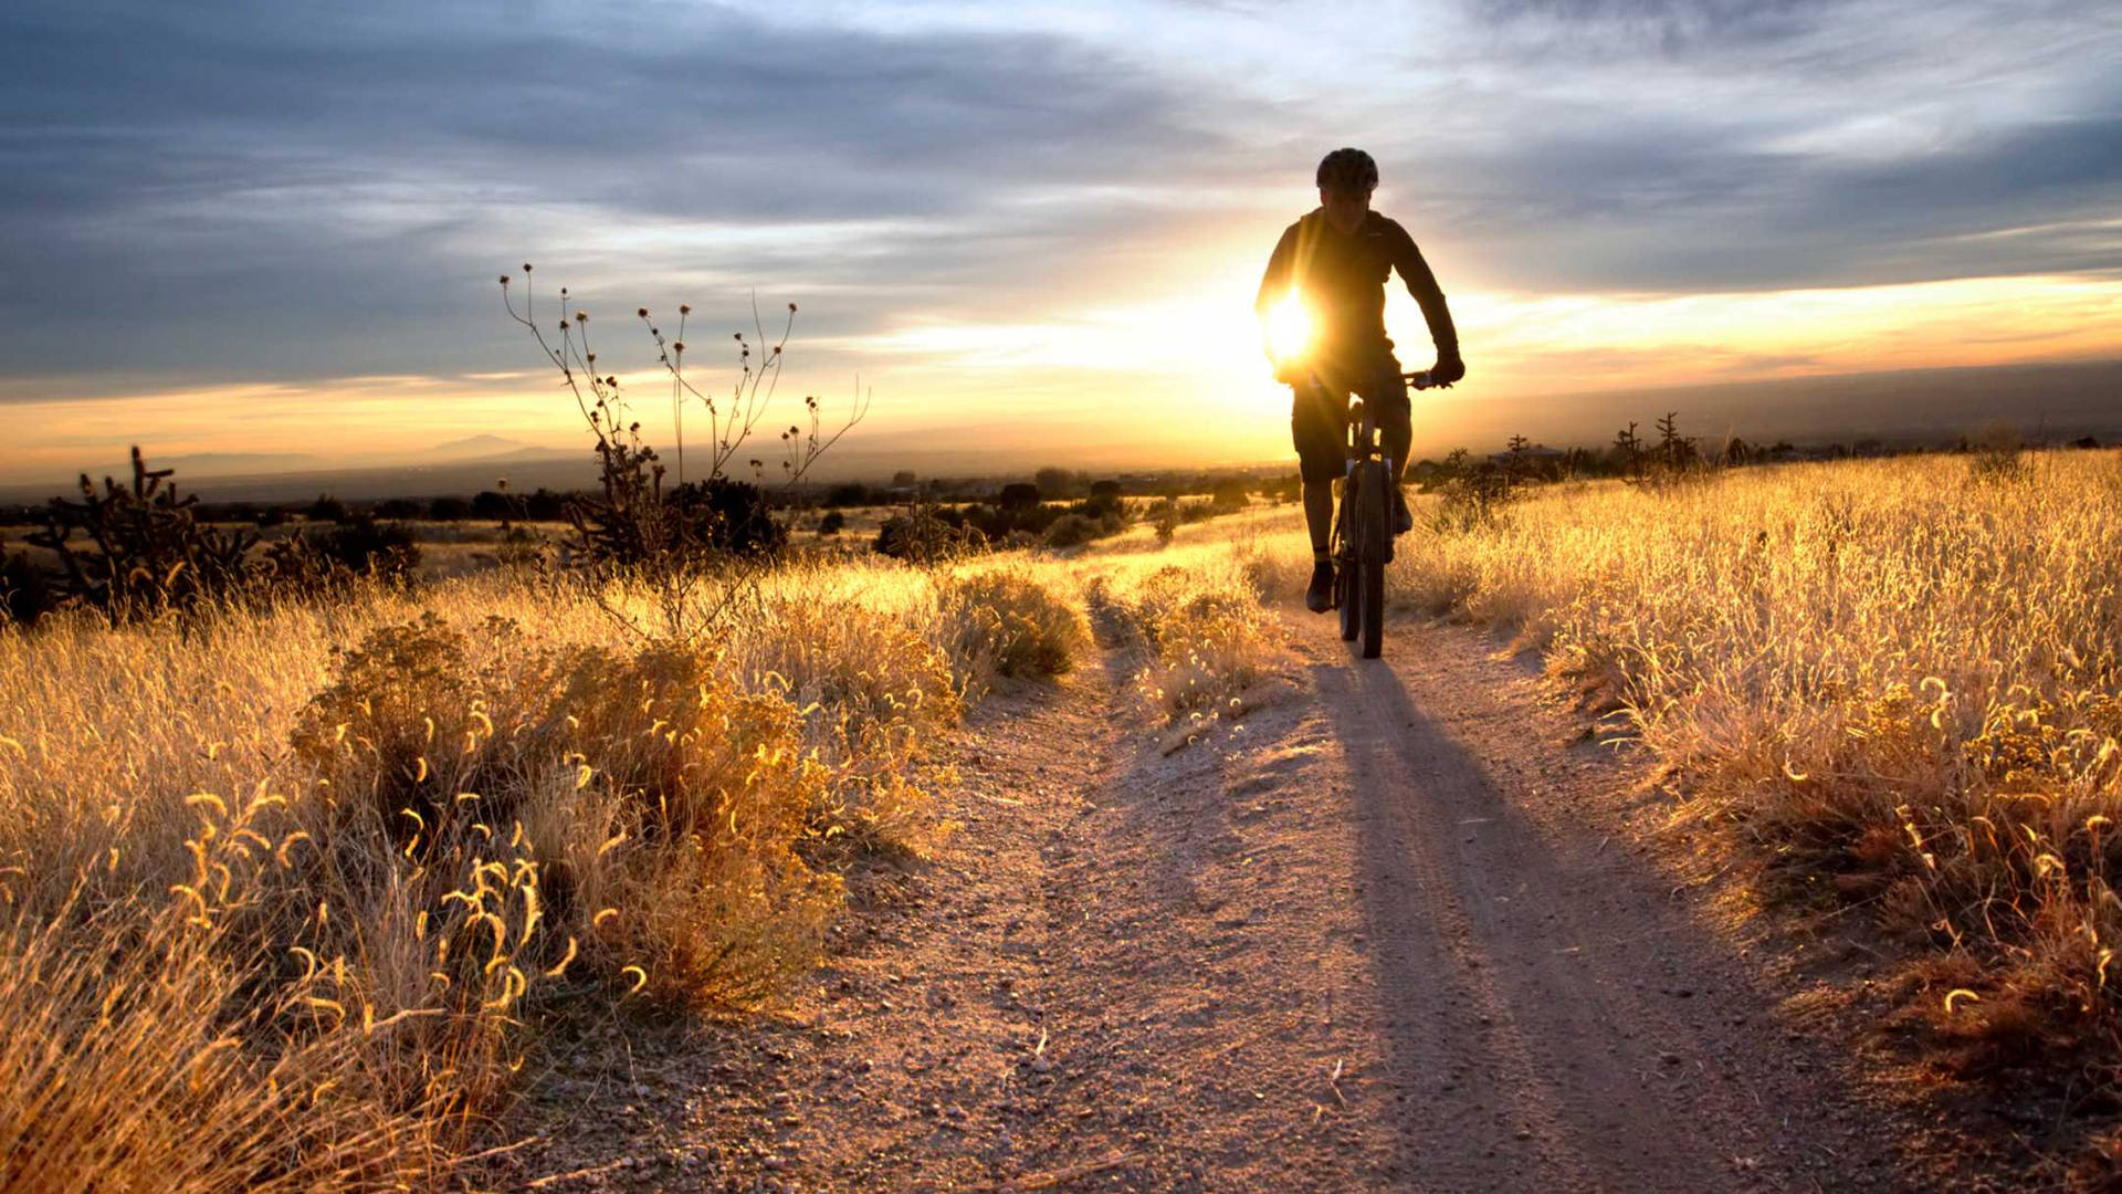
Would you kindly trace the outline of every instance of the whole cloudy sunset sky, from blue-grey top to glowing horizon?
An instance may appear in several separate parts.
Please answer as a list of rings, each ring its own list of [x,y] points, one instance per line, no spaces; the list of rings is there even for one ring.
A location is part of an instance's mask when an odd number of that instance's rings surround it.
[[[2122,357],[2111,0],[30,0],[0,117],[0,478],[579,446],[524,261],[651,440],[634,308],[726,395],[755,300],[872,446],[1273,459],[1254,287],[1339,144],[1460,325],[1417,421]]]

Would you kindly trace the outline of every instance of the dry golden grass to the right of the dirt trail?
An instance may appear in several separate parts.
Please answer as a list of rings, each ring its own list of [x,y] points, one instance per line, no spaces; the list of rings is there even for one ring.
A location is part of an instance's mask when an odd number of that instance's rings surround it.
[[[1420,518],[1417,518],[1420,523]],[[1959,1060],[2109,1081],[2122,901],[2122,459],[1923,457],[1570,484],[1415,533],[1390,593],[1517,631],[1791,892],[1937,948]]]

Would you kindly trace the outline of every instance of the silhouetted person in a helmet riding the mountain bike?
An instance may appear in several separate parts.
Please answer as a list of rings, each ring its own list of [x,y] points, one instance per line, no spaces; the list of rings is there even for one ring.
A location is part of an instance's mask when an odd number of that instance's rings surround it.
[[[1301,361],[1275,361],[1275,380],[1294,389],[1290,406],[1290,438],[1297,442],[1297,470],[1303,478],[1305,525],[1311,529],[1311,584],[1305,608],[1324,614],[1333,608],[1333,482],[1347,463],[1347,395],[1354,393],[1375,412],[1377,429],[1392,457],[1394,516],[1392,531],[1413,527],[1401,476],[1407,472],[1407,448],[1413,440],[1407,385],[1401,361],[1386,338],[1386,280],[1401,272],[1407,293],[1422,304],[1437,346],[1432,385],[1451,385],[1466,376],[1458,353],[1458,331],[1437,276],[1415,249],[1407,229],[1371,210],[1377,189],[1377,161],[1360,149],[1335,149],[1318,168],[1320,206],[1282,232],[1275,253],[1267,259],[1260,295],[1254,310],[1265,321],[1269,308],[1294,293],[1309,308],[1311,344]],[[1269,351],[1273,359],[1273,351]],[[1318,378],[1320,385],[1311,385]]]

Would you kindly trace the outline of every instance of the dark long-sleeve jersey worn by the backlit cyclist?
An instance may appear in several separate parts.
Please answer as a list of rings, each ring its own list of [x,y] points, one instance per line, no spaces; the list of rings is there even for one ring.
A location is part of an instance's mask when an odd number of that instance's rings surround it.
[[[1341,232],[1324,210],[1314,208],[1284,229],[1267,259],[1254,310],[1265,314],[1297,287],[1311,304],[1318,353],[1333,363],[1367,365],[1392,353],[1386,336],[1386,280],[1392,270],[1401,272],[1407,293],[1422,304],[1437,355],[1456,357],[1458,329],[1451,327],[1451,308],[1445,306],[1437,276],[1415,249],[1415,238],[1377,212],[1367,212],[1356,232]]]

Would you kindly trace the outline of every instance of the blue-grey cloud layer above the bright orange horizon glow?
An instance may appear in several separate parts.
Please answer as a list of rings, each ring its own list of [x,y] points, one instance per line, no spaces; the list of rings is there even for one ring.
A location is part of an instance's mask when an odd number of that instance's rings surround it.
[[[611,312],[802,300],[838,368],[923,323],[1243,289],[1311,161],[1352,140],[1454,291],[2122,270],[2122,13],[2101,0],[4,21],[17,382],[520,368],[494,274],[522,255]]]

